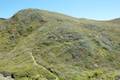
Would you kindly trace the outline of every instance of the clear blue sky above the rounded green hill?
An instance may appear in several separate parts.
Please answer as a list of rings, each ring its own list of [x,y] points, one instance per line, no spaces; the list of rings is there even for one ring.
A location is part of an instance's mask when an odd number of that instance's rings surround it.
[[[0,0],[0,18],[9,18],[26,8],[97,20],[120,17],[120,0]]]

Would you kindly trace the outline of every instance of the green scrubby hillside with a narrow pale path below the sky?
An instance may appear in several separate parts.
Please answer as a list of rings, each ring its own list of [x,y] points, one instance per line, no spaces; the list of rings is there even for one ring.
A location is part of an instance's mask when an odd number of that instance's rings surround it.
[[[0,18],[0,80],[119,80],[119,23],[39,9]]]

